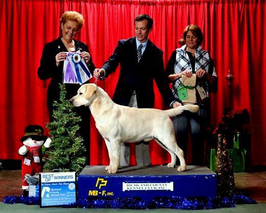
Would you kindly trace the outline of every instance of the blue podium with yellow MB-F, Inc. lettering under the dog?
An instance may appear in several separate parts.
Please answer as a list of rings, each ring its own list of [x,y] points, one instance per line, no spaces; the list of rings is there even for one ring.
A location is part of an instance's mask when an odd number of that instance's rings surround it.
[[[78,200],[158,197],[216,197],[216,174],[207,167],[188,165],[185,172],[166,166],[125,167],[107,174],[105,166],[86,166],[78,176]]]

